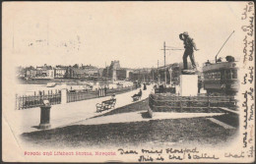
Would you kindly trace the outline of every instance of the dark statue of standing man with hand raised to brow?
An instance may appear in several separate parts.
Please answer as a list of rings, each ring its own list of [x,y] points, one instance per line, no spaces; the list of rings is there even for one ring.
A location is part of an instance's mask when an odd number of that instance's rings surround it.
[[[195,64],[195,58],[194,58],[194,49],[198,51],[195,42],[193,41],[193,38],[189,37],[188,32],[184,31],[183,33],[179,34],[179,38],[183,40],[184,43],[184,55],[183,55],[183,65],[184,70],[187,70],[187,57],[189,56],[190,61],[192,63],[193,70],[196,70],[196,64]]]

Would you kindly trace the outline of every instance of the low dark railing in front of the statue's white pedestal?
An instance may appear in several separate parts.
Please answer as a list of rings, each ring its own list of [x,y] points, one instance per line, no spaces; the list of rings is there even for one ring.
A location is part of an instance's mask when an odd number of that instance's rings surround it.
[[[211,107],[235,108],[237,101],[233,96],[179,96],[176,94],[151,94],[149,105],[152,111],[171,111],[175,109],[202,109]]]

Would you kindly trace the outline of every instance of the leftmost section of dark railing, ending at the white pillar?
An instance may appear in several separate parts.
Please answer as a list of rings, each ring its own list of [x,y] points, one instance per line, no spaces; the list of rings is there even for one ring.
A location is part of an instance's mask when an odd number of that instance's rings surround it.
[[[48,100],[51,105],[61,103],[61,94],[16,96],[16,109],[28,109],[43,105],[43,100]]]

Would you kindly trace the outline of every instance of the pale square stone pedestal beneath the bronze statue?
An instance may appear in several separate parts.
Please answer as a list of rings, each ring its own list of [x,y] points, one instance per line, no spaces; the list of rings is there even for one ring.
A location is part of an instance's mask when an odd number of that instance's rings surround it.
[[[198,75],[180,75],[180,95],[196,96],[198,93]]]

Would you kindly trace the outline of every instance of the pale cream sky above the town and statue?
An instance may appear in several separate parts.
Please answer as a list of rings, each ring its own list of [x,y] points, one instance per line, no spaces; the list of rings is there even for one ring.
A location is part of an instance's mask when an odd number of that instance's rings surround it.
[[[200,49],[198,63],[241,56],[244,2],[5,2],[4,59],[16,66],[163,65],[166,46],[183,48],[188,31]],[[166,64],[182,62],[183,50],[166,51]],[[188,59],[189,60],[189,59]],[[4,61],[4,60],[3,60]]]

